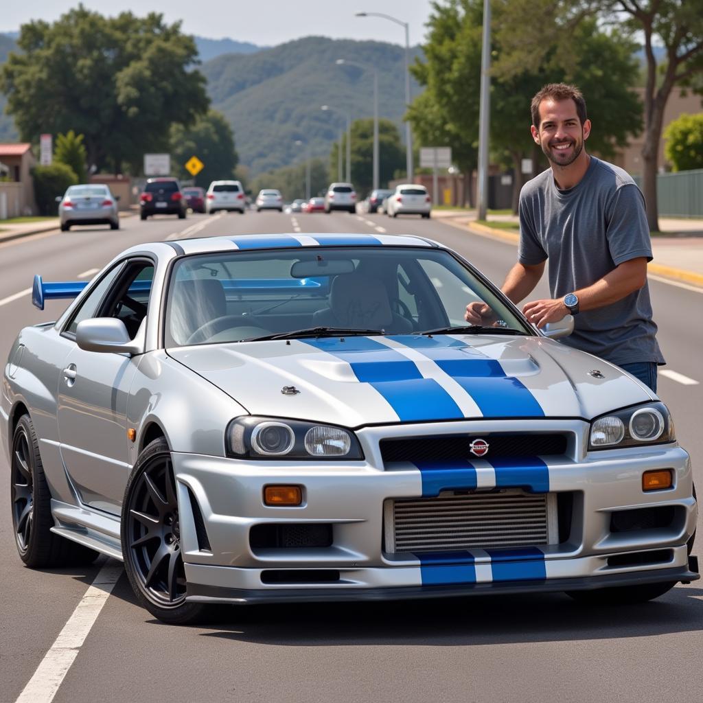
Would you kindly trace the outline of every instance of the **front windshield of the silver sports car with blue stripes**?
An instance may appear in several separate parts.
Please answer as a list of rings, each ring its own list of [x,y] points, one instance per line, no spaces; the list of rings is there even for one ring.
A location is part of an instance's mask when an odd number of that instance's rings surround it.
[[[452,333],[467,303],[496,320],[484,333],[530,334],[494,289],[430,247],[306,247],[193,254],[174,265],[165,344],[182,347],[337,330]],[[330,328],[325,331],[325,328]]]

